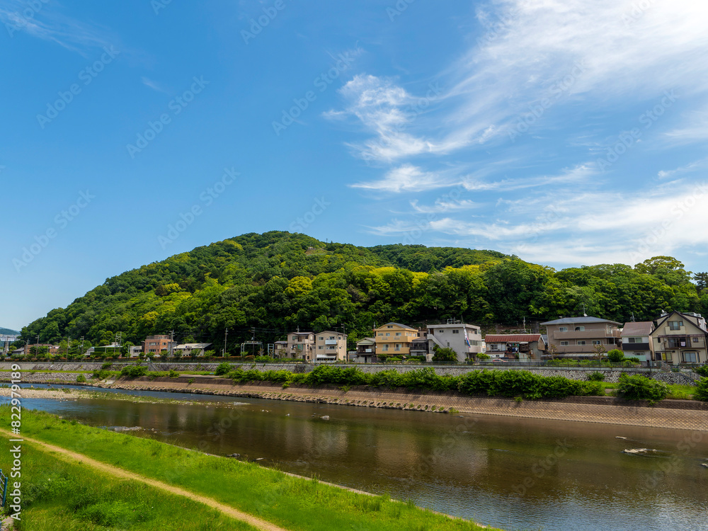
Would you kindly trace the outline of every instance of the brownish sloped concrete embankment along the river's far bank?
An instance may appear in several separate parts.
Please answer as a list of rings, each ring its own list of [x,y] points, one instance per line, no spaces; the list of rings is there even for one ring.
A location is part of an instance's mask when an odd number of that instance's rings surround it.
[[[193,382],[190,383],[190,379]],[[691,400],[664,400],[656,406],[649,406],[646,401],[625,401],[614,396],[569,396],[562,400],[518,402],[514,399],[465,396],[456,392],[421,393],[410,389],[353,387],[343,391],[336,387],[312,388],[299,384],[283,389],[280,384],[270,382],[233,384],[229,379],[215,377],[119,379],[106,384],[106,387],[708,431],[708,404]]]

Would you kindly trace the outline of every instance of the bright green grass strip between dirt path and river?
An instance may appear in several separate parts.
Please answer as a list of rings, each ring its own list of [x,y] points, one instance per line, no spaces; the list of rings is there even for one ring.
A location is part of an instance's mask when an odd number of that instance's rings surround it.
[[[0,426],[9,426],[9,421],[8,407],[0,407]],[[365,496],[253,463],[90,428],[49,413],[23,411],[22,433],[215,498],[293,531],[482,529],[385,496]]]

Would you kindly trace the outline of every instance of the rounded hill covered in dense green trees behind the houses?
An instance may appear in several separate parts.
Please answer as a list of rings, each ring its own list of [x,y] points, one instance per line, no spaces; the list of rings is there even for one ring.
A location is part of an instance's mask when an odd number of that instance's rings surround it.
[[[265,343],[297,327],[344,327],[353,342],[387,321],[513,324],[582,314],[583,308],[617,321],[632,314],[655,319],[662,310],[705,312],[708,292],[670,257],[634,268],[556,271],[496,251],[367,248],[304,234],[252,233],[108,278],[23,328],[22,336],[39,334],[46,343],[84,336],[96,345],[119,331],[132,343],[174,331],[177,341],[222,347],[228,328],[229,350],[236,351],[252,328]]]

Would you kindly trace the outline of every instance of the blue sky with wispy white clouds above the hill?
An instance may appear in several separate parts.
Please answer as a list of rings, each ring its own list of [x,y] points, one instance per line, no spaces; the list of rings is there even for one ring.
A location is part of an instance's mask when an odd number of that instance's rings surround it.
[[[246,232],[706,270],[695,0],[0,0],[0,326]]]

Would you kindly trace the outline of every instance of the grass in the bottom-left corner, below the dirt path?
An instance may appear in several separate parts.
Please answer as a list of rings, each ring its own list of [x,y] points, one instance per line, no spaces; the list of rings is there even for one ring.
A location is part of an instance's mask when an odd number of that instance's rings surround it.
[[[0,448],[0,467],[8,470],[9,442]],[[21,491],[16,529],[23,531],[256,529],[184,496],[58,459],[29,442],[22,446]]]

